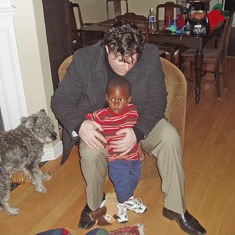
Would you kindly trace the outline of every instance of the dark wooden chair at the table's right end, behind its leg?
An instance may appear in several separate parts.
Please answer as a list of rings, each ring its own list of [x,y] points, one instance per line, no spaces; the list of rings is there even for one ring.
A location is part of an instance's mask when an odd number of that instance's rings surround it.
[[[206,82],[213,82],[216,84],[216,93],[217,97],[221,96],[221,86],[220,86],[220,75],[223,75],[223,82],[224,82],[224,88],[227,88],[227,49],[228,49],[228,43],[229,38],[231,34],[231,28],[232,28],[232,21],[233,21],[234,13],[230,14],[230,16],[226,19],[226,22],[224,23],[222,35],[220,37],[218,48],[213,47],[205,47],[202,50],[203,54],[203,73],[202,77],[206,73],[214,73],[214,81],[212,80],[204,80]],[[184,72],[185,68],[185,62],[190,63],[191,68],[191,75],[190,81],[193,80],[194,77],[194,64],[195,64],[195,56],[197,51],[195,49],[187,49],[186,51],[181,53],[181,61],[182,61],[182,71]],[[207,64],[213,65],[213,70],[207,69]],[[222,72],[220,72],[220,66],[222,67]]]

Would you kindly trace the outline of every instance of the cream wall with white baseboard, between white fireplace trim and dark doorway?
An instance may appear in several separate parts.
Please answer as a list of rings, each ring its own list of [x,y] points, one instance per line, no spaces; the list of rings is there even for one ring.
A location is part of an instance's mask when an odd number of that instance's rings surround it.
[[[45,109],[56,126],[58,123],[50,108],[53,94],[52,78],[44,25],[42,1],[11,0],[15,8],[14,25],[19,63],[28,114]],[[45,146],[43,160],[52,160],[62,154],[59,138]]]

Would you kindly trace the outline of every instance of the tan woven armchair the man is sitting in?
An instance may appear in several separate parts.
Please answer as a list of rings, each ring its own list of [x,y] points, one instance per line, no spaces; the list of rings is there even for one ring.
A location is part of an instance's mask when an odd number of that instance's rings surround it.
[[[68,57],[59,67],[59,80],[61,81],[67,71],[68,66],[73,60],[73,55]],[[184,143],[184,127],[186,114],[186,96],[187,84],[184,74],[178,67],[161,58],[162,68],[165,73],[165,82],[168,92],[166,118],[176,128],[180,137],[183,148]],[[158,176],[156,167],[156,158],[147,156],[142,164],[141,179],[147,179]]]

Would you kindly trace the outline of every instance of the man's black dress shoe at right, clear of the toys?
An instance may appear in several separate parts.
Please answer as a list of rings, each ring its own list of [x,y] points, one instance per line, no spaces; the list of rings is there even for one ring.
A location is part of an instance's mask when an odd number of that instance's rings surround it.
[[[163,215],[170,219],[175,220],[180,228],[191,235],[204,235],[206,234],[206,230],[200,225],[200,223],[186,211],[184,215],[178,214],[174,211],[170,211],[163,208]]]

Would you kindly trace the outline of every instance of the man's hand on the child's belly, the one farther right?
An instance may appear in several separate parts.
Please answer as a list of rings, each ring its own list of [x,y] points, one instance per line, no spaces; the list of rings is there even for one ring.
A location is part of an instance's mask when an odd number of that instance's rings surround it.
[[[117,131],[116,134],[124,134],[125,137],[122,140],[110,142],[110,147],[113,148],[114,152],[121,153],[120,156],[124,156],[129,153],[137,143],[135,133],[132,128],[126,128]]]

